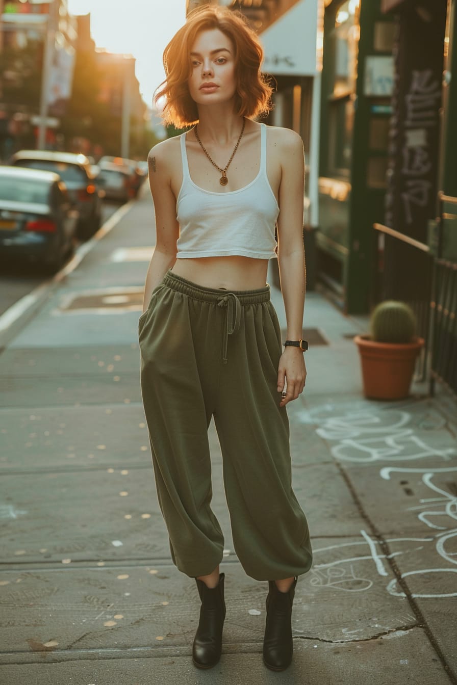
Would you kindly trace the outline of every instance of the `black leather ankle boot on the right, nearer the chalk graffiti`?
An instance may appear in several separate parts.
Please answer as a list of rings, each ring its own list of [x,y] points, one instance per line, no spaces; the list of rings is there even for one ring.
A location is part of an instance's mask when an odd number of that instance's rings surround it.
[[[272,671],[284,671],[292,661],[292,604],[295,595],[297,577],[293,580],[288,592],[277,589],[274,580],[269,580],[267,622],[263,641],[263,660]]]

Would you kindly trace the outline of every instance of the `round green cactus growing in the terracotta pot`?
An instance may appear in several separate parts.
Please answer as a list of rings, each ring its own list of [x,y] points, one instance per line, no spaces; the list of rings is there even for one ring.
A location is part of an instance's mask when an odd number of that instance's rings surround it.
[[[410,343],[415,331],[415,314],[404,302],[386,300],[371,314],[371,338],[377,343]]]

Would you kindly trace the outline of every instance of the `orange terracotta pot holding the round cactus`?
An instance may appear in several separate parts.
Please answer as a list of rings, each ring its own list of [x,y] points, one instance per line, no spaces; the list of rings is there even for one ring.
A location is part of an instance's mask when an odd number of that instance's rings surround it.
[[[412,343],[375,343],[370,336],[356,336],[354,343],[360,353],[365,397],[373,399],[404,399],[408,397],[416,358],[423,347],[423,338]]]

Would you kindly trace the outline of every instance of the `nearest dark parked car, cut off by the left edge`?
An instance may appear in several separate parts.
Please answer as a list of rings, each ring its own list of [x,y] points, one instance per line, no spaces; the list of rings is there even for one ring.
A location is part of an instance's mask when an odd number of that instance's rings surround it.
[[[58,174],[0,166],[0,257],[57,271],[73,251],[79,214]]]

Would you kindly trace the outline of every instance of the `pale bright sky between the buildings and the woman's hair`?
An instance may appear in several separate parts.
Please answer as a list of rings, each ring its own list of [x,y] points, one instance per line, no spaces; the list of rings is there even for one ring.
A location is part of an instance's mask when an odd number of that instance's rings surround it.
[[[71,14],[90,12],[97,47],[136,58],[140,92],[151,105],[164,80],[164,47],[185,21],[186,0],[68,0]]]

